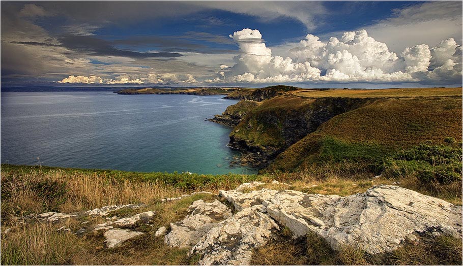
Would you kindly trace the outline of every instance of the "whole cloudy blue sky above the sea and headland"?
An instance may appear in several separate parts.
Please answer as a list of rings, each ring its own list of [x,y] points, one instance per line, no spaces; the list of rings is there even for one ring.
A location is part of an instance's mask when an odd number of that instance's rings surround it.
[[[461,86],[461,1],[1,2],[2,85]]]

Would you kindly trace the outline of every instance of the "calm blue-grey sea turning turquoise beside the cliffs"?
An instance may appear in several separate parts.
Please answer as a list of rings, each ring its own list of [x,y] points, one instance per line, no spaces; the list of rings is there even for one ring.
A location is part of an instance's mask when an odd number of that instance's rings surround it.
[[[205,121],[237,101],[223,96],[112,92],[2,92],[1,162],[203,174],[229,168],[230,128]]]

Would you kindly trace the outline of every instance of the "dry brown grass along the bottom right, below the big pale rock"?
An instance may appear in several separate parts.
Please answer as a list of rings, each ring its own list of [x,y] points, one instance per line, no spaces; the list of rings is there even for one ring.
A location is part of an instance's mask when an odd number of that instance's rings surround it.
[[[344,246],[331,249],[321,237],[309,233],[297,239],[284,236],[253,251],[253,265],[461,265],[461,238],[424,236],[419,242],[407,241],[394,252],[370,255]]]

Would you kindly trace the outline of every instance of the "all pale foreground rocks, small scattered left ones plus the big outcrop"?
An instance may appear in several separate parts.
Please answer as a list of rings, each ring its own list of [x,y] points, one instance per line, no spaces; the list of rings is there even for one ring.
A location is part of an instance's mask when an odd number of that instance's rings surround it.
[[[263,184],[245,183],[234,190],[220,191],[213,202],[195,201],[183,220],[170,223],[169,228],[153,228],[156,237],[164,237],[164,243],[170,247],[190,248],[189,254],[199,254],[199,264],[207,265],[249,264],[252,249],[267,244],[284,227],[295,237],[312,232],[335,250],[348,245],[370,254],[391,252],[406,239],[419,241],[424,233],[457,238],[462,235],[461,206],[409,189],[380,185],[362,194],[341,197],[259,188]],[[189,195],[183,197],[186,196]],[[168,198],[163,202],[178,199]],[[140,208],[144,211],[136,215],[110,217],[118,210],[121,213],[120,210]],[[105,246],[110,249],[142,237],[146,233],[137,228],[152,227],[156,215],[143,205],[114,205],[73,214],[44,213],[19,220],[74,219],[82,228],[73,234],[103,232]],[[104,218],[104,223],[90,224],[88,217],[95,216],[108,218]]]

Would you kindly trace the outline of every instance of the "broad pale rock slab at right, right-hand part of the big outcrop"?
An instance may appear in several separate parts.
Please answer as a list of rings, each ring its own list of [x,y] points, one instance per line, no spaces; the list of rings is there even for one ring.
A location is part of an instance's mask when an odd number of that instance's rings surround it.
[[[334,249],[350,245],[370,254],[390,252],[424,231],[461,237],[461,206],[396,186],[346,197],[282,191],[263,204],[295,235],[315,232]]]

